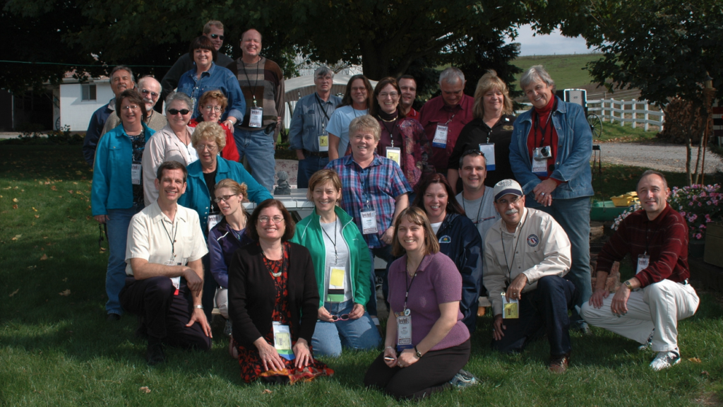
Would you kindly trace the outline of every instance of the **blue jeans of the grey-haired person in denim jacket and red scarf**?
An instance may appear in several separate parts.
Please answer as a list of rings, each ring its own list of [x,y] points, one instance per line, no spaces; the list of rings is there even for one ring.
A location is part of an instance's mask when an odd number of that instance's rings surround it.
[[[590,280],[590,197],[571,199],[555,199],[552,206],[536,207],[552,215],[557,223],[562,226],[568,234],[572,245],[573,264],[570,272],[565,278],[573,282],[579,293],[575,305],[582,308],[583,303],[589,301],[592,295],[592,283]],[[573,326],[579,327],[584,324],[578,311],[573,309]]]

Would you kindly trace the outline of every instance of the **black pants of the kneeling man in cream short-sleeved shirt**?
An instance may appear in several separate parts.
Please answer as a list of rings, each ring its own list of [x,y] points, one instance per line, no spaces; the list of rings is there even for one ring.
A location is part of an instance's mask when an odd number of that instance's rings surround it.
[[[126,285],[119,295],[125,311],[142,316],[145,332],[150,338],[180,348],[197,348],[208,351],[211,338],[191,320],[193,300],[186,282],[181,279],[179,294],[168,277],[150,277],[136,280],[126,277]],[[141,327],[143,329],[143,327]]]

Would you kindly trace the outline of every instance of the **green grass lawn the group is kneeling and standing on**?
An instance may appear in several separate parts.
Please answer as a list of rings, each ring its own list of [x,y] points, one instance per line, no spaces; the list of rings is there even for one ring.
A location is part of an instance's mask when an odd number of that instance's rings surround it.
[[[166,364],[147,366],[145,343],[134,336],[135,317],[105,322],[108,254],[98,248],[98,225],[88,201],[91,173],[80,146],[4,144],[0,151],[1,406],[413,404],[397,403],[361,385],[377,352],[345,351],[341,358],[325,359],[335,376],[312,383],[246,385],[228,357],[220,325],[212,351],[169,348]],[[605,167],[604,192],[631,190],[640,172]],[[669,180],[682,185],[678,177]],[[637,343],[595,329],[593,337],[573,333],[570,370],[550,374],[547,343],[533,343],[516,356],[490,351],[492,319],[484,316],[478,319],[466,368],[482,385],[414,405],[719,405],[723,307],[719,295],[699,293],[698,313],[679,324],[683,361],[667,371],[652,372],[652,355],[638,352]]]

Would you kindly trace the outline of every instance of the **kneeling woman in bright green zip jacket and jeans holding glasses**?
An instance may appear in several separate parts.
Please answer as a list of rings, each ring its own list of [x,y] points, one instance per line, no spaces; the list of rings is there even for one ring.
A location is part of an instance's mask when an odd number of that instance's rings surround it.
[[[352,219],[341,207],[341,180],[332,169],[309,179],[315,211],[296,224],[294,243],[309,249],[319,285],[319,312],[312,337],[315,356],[340,356],[341,346],[374,349],[379,335],[364,309],[369,295],[369,248]]]

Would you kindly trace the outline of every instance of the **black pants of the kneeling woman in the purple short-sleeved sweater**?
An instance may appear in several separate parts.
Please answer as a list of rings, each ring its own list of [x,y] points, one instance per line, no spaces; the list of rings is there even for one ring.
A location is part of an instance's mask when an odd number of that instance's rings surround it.
[[[469,361],[469,339],[452,348],[429,351],[407,367],[389,367],[384,353],[372,362],[364,376],[364,385],[378,387],[397,399],[419,400],[450,387],[449,381]]]

